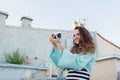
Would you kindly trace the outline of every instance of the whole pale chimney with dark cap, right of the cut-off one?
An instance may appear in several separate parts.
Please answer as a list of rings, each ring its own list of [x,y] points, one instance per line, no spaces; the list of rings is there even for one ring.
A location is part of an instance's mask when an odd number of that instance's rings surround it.
[[[32,18],[27,17],[27,16],[23,16],[20,20],[21,20],[22,27],[24,27],[24,28],[30,28],[32,26],[31,25],[31,23],[33,21]]]

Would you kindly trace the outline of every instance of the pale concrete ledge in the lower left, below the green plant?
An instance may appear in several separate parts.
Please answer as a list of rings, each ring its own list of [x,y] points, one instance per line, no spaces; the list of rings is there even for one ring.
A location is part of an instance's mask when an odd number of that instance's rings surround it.
[[[0,63],[0,80],[46,80],[46,71],[41,66]]]

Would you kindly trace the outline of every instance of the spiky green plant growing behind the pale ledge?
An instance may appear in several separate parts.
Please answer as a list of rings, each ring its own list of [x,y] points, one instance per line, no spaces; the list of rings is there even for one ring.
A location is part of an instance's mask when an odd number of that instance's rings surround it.
[[[22,64],[25,61],[25,55],[21,55],[20,50],[16,49],[12,53],[5,52],[5,59],[8,63],[11,64]]]

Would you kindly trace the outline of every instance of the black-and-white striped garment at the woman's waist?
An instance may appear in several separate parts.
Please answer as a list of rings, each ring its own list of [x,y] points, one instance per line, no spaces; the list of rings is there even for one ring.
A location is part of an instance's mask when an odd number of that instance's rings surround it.
[[[66,80],[90,80],[90,75],[86,69],[80,71],[69,69]]]

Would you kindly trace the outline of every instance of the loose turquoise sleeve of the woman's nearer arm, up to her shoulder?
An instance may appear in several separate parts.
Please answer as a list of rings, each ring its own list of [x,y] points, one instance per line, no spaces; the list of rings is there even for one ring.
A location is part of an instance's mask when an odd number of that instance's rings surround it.
[[[82,68],[86,68],[89,63],[94,62],[93,58],[95,56],[92,53],[72,54],[70,51],[64,50],[58,61],[58,66],[81,70]]]

